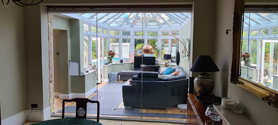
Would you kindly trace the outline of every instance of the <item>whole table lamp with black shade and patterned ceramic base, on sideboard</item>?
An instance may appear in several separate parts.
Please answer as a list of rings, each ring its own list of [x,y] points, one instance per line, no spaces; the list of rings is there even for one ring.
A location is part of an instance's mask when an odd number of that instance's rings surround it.
[[[190,68],[191,72],[202,72],[198,78],[194,80],[194,88],[199,95],[211,94],[215,81],[210,78],[210,74],[205,72],[218,72],[219,68],[209,55],[200,55]]]

